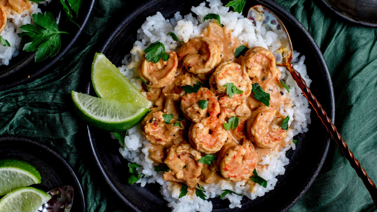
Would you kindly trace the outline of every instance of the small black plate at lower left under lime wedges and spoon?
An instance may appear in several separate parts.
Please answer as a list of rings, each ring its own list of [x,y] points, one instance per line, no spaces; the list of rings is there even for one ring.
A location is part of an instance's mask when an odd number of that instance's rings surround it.
[[[29,138],[0,137],[0,160],[15,158],[30,163],[41,174],[41,183],[31,185],[48,192],[60,186],[72,186],[74,200],[71,212],[85,211],[83,189],[75,172],[54,150]]]

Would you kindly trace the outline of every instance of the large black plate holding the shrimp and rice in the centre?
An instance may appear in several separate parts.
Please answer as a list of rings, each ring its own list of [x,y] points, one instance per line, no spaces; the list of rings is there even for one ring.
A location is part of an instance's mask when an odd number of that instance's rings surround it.
[[[124,55],[129,54],[136,40],[136,31],[146,20],[146,17],[160,11],[166,18],[172,18],[176,11],[188,14],[190,8],[203,0],[185,1],[176,0],[151,0],[129,14],[112,32],[106,40],[100,52],[103,52],[116,66],[121,65]],[[189,3],[188,3],[189,2]],[[308,31],[293,17],[271,0],[248,0],[244,8],[244,14],[248,9],[257,4],[267,6],[275,12],[287,26],[292,38],[294,50],[306,56],[305,64],[308,74],[313,80],[311,90],[317,96],[318,101],[334,121],[334,94],[331,78],[318,46]],[[87,91],[90,95],[96,95],[90,84]],[[139,184],[128,185],[127,160],[119,153],[120,145],[117,140],[112,140],[109,133],[101,132],[88,126],[88,137],[93,155],[100,171],[102,172],[111,189],[130,207],[136,211],[170,211],[167,202],[159,192],[159,184],[147,184],[141,187]],[[296,150],[289,150],[287,157],[290,163],[285,166],[285,174],[277,176],[278,182],[274,190],[263,197],[248,200],[244,197],[241,208],[230,209],[228,200],[220,200],[218,197],[210,199],[213,211],[286,211],[299,200],[316,178],[325,160],[330,135],[314,111],[311,112],[311,124],[309,131],[295,137],[298,140]],[[315,200],[313,200],[315,201]]]

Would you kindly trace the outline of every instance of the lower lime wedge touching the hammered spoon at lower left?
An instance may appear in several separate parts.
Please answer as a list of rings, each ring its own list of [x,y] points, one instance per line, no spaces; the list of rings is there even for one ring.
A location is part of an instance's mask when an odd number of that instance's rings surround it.
[[[16,189],[0,200],[0,212],[34,212],[51,199],[43,190],[33,187]]]

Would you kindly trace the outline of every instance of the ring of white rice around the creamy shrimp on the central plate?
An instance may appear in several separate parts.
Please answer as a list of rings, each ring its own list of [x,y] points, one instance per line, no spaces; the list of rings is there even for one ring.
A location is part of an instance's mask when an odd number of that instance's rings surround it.
[[[236,37],[241,45],[244,44],[248,48],[254,46],[262,46],[274,51],[279,48],[280,40],[274,32],[266,31],[261,22],[255,24],[238,14],[237,12],[229,11],[229,8],[222,6],[220,0],[207,0],[209,2],[209,8],[201,3],[198,7],[192,7],[192,11],[196,14],[197,18],[191,13],[182,17],[177,12],[172,19],[165,19],[161,13],[157,12],[156,15],[148,17],[147,21],[138,30],[138,41],[135,42],[131,55],[126,55],[120,71],[127,77],[131,83],[137,88],[141,88],[141,81],[135,80],[137,77],[135,74],[135,67],[140,65],[140,61],[143,58],[144,49],[157,40],[160,40],[165,45],[167,51],[176,51],[181,42],[173,41],[170,36],[166,36],[168,32],[174,32],[180,40],[184,42],[189,41],[194,37],[200,35],[202,30],[208,27],[210,20],[201,22],[202,18],[208,13],[219,14],[221,23],[230,28],[233,36]],[[199,21],[200,20],[200,21]],[[307,76],[306,66],[303,64],[305,56],[299,58],[299,53],[294,51],[294,68],[300,72],[305,79],[308,86],[311,80]],[[291,107],[282,105],[281,108],[276,108],[282,115],[289,115],[290,129],[287,131],[287,137],[285,141],[287,146],[281,148],[279,152],[272,152],[257,162],[257,173],[259,176],[268,181],[267,187],[264,188],[259,184],[256,184],[252,188],[249,188],[245,181],[242,182],[228,182],[221,181],[219,184],[203,184],[206,191],[207,198],[214,198],[222,194],[222,190],[230,189],[238,194],[243,194],[251,200],[256,197],[263,196],[266,192],[274,189],[276,185],[277,175],[283,175],[285,173],[284,166],[289,163],[285,152],[296,146],[292,141],[294,135],[308,131],[308,124],[310,124],[310,109],[308,108],[308,101],[301,94],[300,88],[297,86],[296,81],[293,80],[289,72],[282,67],[279,67],[282,75],[281,79],[290,86],[290,92],[284,89],[284,94],[291,98]],[[293,129],[294,128],[294,129]],[[114,139],[116,139],[113,136]],[[174,186],[169,181],[162,179],[162,172],[155,172],[153,161],[149,159],[148,146],[149,142],[141,134],[141,125],[138,124],[128,131],[128,136],[124,139],[125,150],[119,149],[120,153],[128,161],[140,164],[142,167],[138,168],[139,173],[144,173],[145,177],[141,178],[137,183],[140,186],[145,186],[146,183],[159,183],[161,185],[161,194],[168,202],[168,206],[172,208],[174,212],[209,212],[212,210],[212,203],[208,200],[202,200],[196,195],[179,198],[180,188]],[[241,207],[242,197],[234,194],[227,194],[224,199],[230,201],[230,208]],[[226,201],[226,200],[224,200]]]

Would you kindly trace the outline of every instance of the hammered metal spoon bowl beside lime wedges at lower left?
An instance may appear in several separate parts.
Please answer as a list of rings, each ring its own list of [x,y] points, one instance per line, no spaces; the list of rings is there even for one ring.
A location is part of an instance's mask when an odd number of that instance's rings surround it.
[[[73,201],[73,188],[61,186],[47,192],[51,199],[35,212],[69,212]]]

